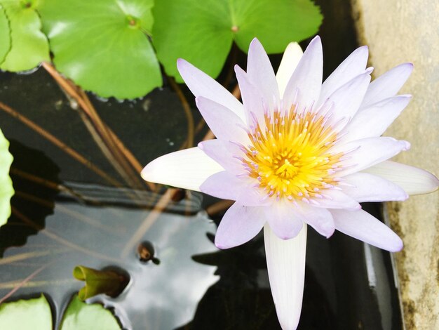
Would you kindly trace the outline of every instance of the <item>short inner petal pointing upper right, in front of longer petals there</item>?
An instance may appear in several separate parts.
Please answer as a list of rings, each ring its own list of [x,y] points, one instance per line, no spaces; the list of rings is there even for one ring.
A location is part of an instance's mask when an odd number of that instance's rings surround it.
[[[351,119],[355,116],[369,83],[370,72],[365,72],[351,79],[330,95],[328,100],[333,103],[330,124],[335,124],[342,118]]]

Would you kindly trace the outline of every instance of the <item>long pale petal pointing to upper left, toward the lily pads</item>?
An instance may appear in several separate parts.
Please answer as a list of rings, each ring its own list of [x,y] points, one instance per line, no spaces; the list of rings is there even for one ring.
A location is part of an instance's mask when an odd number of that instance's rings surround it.
[[[244,107],[234,95],[231,95],[226,88],[221,86],[215,79],[198,70],[194,65],[179,58],[177,68],[184,82],[195,96],[203,96],[220,105],[224,105],[233,111],[242,121],[245,121]]]

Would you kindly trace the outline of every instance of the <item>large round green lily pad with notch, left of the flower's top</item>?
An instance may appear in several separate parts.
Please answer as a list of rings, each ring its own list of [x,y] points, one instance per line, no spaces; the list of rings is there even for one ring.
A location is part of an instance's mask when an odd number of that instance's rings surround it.
[[[102,97],[137,98],[161,86],[148,34],[153,0],[40,0],[57,70]]]

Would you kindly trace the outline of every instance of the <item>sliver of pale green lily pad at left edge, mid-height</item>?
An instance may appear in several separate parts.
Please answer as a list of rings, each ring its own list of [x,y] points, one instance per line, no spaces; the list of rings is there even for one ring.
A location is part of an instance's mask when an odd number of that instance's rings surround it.
[[[13,157],[8,150],[9,141],[0,130],[0,226],[11,216],[11,197],[14,194],[12,180],[9,176]],[[0,327],[0,329],[3,329]]]

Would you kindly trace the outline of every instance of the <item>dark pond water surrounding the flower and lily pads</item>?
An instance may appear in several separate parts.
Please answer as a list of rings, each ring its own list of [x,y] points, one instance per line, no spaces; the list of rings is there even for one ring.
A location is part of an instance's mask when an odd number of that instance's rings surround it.
[[[347,15],[321,5],[327,20]],[[355,36],[351,25],[333,19],[332,25],[325,21],[320,35],[330,72],[355,48]],[[340,44],[344,48],[337,48]],[[198,123],[193,97],[181,88]],[[143,165],[178,150],[187,138],[187,118],[168,84],[142,100],[123,103],[89,96]],[[0,101],[123,182],[79,112],[42,68],[29,75],[1,73]],[[116,266],[130,275],[125,291],[88,302],[111,308],[123,329],[280,329],[263,237],[227,251],[216,249],[212,236],[224,209],[210,215],[205,210],[217,199],[180,192],[180,200],[154,209],[166,187],[155,192],[143,184],[114,187],[11,114],[0,111],[0,123],[11,141],[15,187],[13,215],[0,229],[0,297],[39,271],[8,300],[46,293],[59,322],[69,298],[83,286],[72,276],[76,265]],[[194,140],[205,133],[201,129]],[[363,207],[380,214],[379,205]],[[137,246],[144,241],[154,246],[158,265],[139,260]],[[401,329],[393,271],[389,253],[338,232],[325,239],[309,230],[299,329]]]

